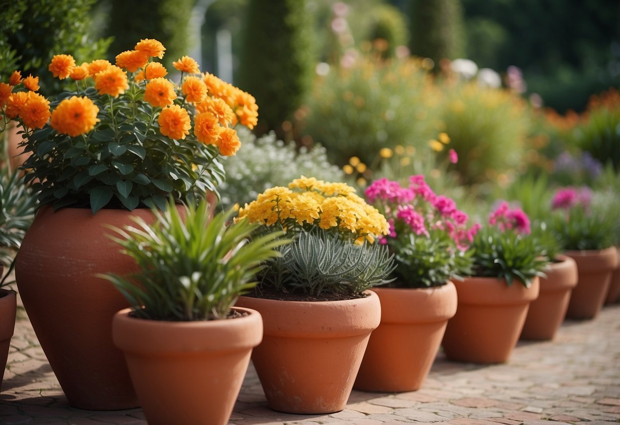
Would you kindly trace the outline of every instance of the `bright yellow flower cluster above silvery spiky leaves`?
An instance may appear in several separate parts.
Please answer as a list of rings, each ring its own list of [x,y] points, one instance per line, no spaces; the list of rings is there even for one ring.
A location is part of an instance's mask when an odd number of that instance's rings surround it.
[[[351,186],[304,176],[293,180],[288,188],[276,186],[261,193],[239,209],[237,220],[244,217],[265,226],[280,223],[285,229],[318,226],[337,230],[357,242],[373,242],[389,231],[383,214],[356,195]]]

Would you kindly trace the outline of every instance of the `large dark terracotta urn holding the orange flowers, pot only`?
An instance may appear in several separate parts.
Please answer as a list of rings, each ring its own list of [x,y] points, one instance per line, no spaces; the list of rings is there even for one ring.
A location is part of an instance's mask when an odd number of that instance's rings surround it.
[[[123,227],[133,212],[43,206],[17,253],[15,280],[37,338],[71,406],[117,410],[138,406],[125,359],[112,343],[112,317],[129,307],[97,273],[136,271],[104,225]]]

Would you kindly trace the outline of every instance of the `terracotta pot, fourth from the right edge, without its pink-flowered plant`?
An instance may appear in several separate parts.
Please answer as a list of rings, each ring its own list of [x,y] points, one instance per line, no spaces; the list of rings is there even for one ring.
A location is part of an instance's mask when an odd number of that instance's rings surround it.
[[[468,277],[454,281],[458,307],[443,336],[448,359],[479,364],[508,361],[516,346],[529,303],[538,297],[539,279],[529,288],[518,281]]]

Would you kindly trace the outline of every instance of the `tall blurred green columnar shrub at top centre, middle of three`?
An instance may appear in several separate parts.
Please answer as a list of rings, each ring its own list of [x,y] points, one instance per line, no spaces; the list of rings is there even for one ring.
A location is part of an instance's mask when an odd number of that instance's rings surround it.
[[[239,87],[259,105],[257,134],[290,120],[313,71],[312,23],[304,0],[250,0]]]

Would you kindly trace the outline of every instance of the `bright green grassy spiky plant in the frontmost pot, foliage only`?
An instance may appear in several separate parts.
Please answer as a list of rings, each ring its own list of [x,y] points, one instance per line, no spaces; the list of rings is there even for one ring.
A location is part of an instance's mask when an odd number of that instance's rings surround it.
[[[227,225],[232,211],[211,219],[208,203],[177,210],[154,210],[157,222],[113,228],[110,238],[131,256],[139,271],[104,274],[122,292],[136,317],[192,321],[224,318],[241,292],[255,286],[263,262],[288,243],[273,232],[249,240],[257,225],[247,220]],[[279,239],[278,239],[279,238]]]

